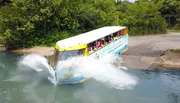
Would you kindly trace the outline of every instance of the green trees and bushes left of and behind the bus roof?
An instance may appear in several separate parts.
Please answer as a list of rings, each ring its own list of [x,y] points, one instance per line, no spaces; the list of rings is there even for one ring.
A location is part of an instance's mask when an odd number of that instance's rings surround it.
[[[69,36],[118,25],[115,10],[112,0],[12,0],[0,8],[0,34],[8,49],[51,46]]]

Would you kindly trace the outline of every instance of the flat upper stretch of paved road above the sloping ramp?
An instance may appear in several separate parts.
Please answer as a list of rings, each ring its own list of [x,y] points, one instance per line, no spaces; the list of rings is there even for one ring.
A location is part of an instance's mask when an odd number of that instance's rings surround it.
[[[129,37],[128,55],[159,56],[167,49],[180,48],[180,33]]]

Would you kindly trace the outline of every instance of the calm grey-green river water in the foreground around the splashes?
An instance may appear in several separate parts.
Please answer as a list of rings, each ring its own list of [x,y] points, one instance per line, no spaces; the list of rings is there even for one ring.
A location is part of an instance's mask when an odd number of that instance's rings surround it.
[[[139,80],[132,89],[125,90],[93,79],[54,86],[47,79],[37,82],[33,75],[27,82],[13,80],[20,57],[0,53],[0,103],[180,103],[180,70],[129,69],[126,72]]]

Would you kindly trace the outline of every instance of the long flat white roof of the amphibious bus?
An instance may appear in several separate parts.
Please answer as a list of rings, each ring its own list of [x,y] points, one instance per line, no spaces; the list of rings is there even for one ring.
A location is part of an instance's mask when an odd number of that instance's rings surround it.
[[[106,26],[86,33],[79,34],[56,43],[60,48],[67,48],[76,45],[89,44],[112,33],[125,29],[125,26]]]

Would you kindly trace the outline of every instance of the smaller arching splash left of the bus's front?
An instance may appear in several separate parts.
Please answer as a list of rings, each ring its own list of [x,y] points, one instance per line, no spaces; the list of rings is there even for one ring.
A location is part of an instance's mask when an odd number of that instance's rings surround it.
[[[50,66],[47,59],[37,54],[21,57],[17,66],[17,72],[8,81],[38,83],[43,79],[47,79],[48,76],[52,78],[55,76],[48,69]]]

